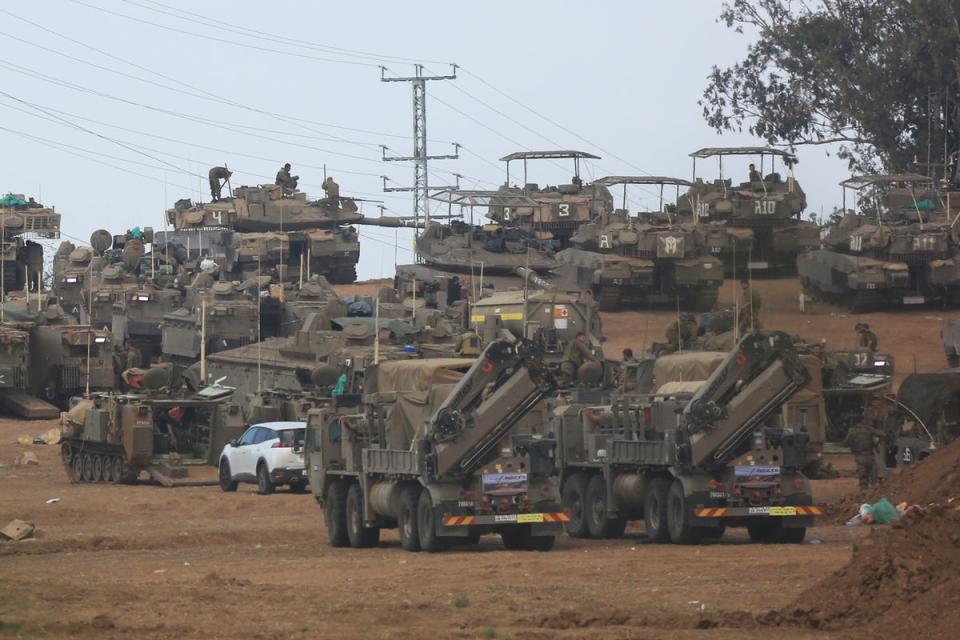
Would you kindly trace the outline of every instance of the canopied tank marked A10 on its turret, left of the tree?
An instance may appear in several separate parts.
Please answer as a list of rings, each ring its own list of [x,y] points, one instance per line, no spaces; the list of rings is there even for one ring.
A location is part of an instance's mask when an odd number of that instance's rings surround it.
[[[729,245],[730,253],[726,249],[719,253],[729,273],[734,268],[738,277],[745,269],[793,271],[798,254],[820,246],[817,225],[800,219],[807,197],[793,176],[794,155],[768,147],[719,147],[700,149],[690,156],[693,186],[677,202],[680,213],[697,222],[725,221],[731,228],[752,232],[753,244],[746,254],[739,252],[736,243]],[[730,156],[759,157],[760,168],[750,165],[748,179],[734,186],[723,172],[723,160]],[[712,182],[697,178],[697,160],[706,158],[719,162],[720,177]],[[788,172],[786,179],[776,170],[777,158]]]

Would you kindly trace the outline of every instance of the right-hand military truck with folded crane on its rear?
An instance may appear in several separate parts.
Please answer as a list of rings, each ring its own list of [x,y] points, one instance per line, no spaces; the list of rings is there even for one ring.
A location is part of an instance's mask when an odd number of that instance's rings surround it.
[[[574,396],[553,409],[567,532],[616,537],[643,518],[653,542],[746,527],[799,543],[820,509],[802,474],[807,434],[765,422],[807,382],[789,336],[751,333],[690,391]]]

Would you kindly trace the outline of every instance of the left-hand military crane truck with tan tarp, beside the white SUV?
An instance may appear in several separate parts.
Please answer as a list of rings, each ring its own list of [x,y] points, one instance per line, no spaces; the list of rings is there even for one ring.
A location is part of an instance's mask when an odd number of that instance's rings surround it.
[[[504,339],[476,360],[437,363],[386,363],[392,385],[310,412],[305,461],[331,546],[376,546],[396,527],[408,551],[487,533],[508,549],[551,549],[567,518],[556,442],[518,427],[554,387],[537,350]]]

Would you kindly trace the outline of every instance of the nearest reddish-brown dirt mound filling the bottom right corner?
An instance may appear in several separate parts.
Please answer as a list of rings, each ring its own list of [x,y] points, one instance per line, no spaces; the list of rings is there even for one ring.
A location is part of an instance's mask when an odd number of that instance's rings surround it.
[[[762,625],[860,629],[877,636],[956,638],[960,626],[960,509],[934,505],[876,529],[850,564]]]

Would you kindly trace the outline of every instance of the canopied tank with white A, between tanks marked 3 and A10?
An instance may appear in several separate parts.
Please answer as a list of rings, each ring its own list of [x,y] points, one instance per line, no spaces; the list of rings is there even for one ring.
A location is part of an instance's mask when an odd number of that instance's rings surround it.
[[[561,263],[593,272],[593,290],[602,311],[624,304],[667,303],[707,311],[723,284],[723,265],[710,253],[701,226],[680,223],[664,206],[664,186],[692,186],[685,180],[647,176],[608,176],[594,184],[622,186],[623,208],[581,225],[570,238],[573,249],[557,254]],[[660,208],[631,216],[628,185],[658,187]]]

